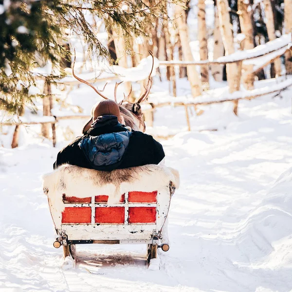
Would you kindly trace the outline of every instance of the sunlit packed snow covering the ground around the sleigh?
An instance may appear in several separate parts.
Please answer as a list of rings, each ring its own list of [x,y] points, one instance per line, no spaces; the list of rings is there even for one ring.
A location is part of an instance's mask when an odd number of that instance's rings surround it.
[[[179,117],[181,110],[167,114]],[[0,148],[0,292],[290,291],[289,172],[270,190],[292,166],[290,98],[242,101],[239,117],[232,105],[215,105],[192,123],[200,119],[226,129],[163,142],[181,187],[171,202],[171,245],[160,255],[160,271],[146,269],[145,245],[77,246],[76,269],[63,271],[40,176],[52,171],[64,144]]]

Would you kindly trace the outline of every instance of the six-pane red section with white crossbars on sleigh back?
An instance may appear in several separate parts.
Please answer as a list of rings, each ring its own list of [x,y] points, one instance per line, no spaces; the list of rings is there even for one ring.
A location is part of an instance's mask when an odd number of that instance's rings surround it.
[[[64,197],[62,224],[155,224],[157,191],[128,192],[120,203],[107,204],[108,196]]]

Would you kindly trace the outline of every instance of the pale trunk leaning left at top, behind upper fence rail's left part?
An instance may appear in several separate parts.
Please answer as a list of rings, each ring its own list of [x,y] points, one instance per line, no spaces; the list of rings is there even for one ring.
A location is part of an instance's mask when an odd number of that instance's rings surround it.
[[[186,24],[186,14],[183,6],[186,5],[186,1],[182,1],[179,5],[175,5],[174,12],[176,23],[178,26],[179,35],[182,41],[183,57],[185,61],[193,61],[193,55],[189,44],[188,28]],[[201,79],[199,73],[196,70],[196,66],[187,66],[187,76],[191,85],[191,91],[193,97],[201,95]]]

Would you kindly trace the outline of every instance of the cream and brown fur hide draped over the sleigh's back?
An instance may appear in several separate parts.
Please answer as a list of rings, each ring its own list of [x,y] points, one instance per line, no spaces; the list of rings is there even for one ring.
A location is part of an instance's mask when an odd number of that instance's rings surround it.
[[[121,195],[130,191],[153,192],[165,187],[178,188],[177,170],[155,164],[116,169],[111,172],[64,164],[43,176],[43,189],[48,195],[51,211],[59,218],[64,211],[63,195],[86,198],[109,196],[108,203],[119,203]],[[56,222],[55,222],[56,223]]]

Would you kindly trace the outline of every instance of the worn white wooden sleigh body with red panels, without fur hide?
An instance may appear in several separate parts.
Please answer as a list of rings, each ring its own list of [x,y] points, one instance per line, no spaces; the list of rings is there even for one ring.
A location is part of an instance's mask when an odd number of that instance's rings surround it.
[[[140,168],[143,169],[143,167]],[[157,167],[165,169],[165,167],[155,165],[156,172]],[[155,173],[148,175],[150,180],[153,175]],[[143,176],[145,175],[142,174]],[[110,194],[101,194],[105,190],[99,189],[98,186],[91,191],[88,197],[85,195],[76,196],[76,192],[72,196],[66,190],[63,192],[64,189],[60,187],[60,185],[66,185],[64,178],[58,178],[57,180],[62,182],[56,185],[55,189],[58,190],[59,195],[62,192],[63,207],[61,212],[59,208],[54,206],[56,203],[52,194],[50,196],[50,187],[53,189],[53,186],[52,183],[46,182],[46,178],[48,175],[44,177],[44,192],[48,195],[50,211],[57,233],[54,247],[59,248],[63,245],[64,258],[68,256],[76,258],[76,244],[138,243],[147,244],[146,263],[149,265],[151,259],[157,258],[158,248],[164,252],[169,250],[167,215],[171,196],[178,184],[175,185],[173,177],[170,177],[172,180],[162,180],[162,183],[157,183],[156,178],[153,185],[146,185],[145,182],[140,185],[139,182],[136,182],[134,186],[137,187],[137,190],[134,190],[133,183],[129,185],[127,190],[126,183],[120,200],[115,203],[108,203]]]

